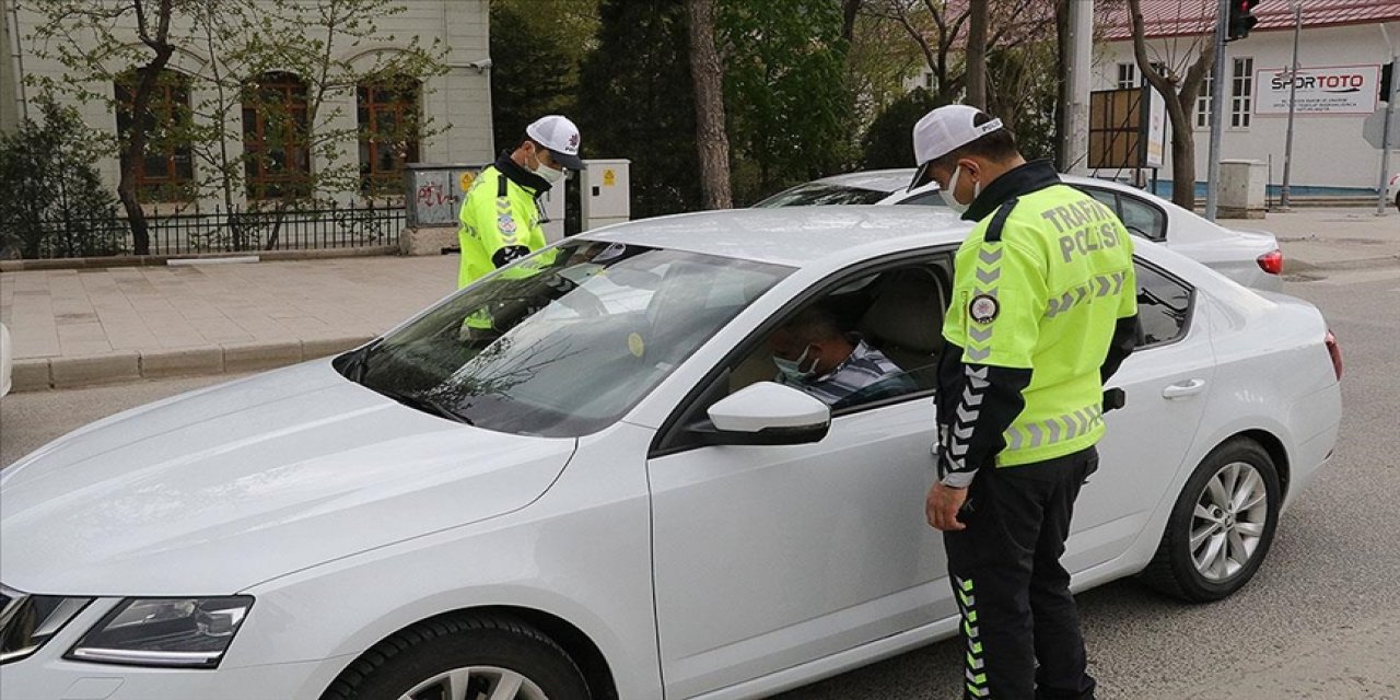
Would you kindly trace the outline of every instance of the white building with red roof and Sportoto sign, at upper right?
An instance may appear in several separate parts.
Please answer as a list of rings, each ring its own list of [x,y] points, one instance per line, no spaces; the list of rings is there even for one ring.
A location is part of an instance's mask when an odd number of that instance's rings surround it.
[[[1207,3],[1201,3],[1203,6]],[[1180,73],[1212,36],[1214,1],[1144,0],[1148,56]],[[1194,15],[1183,17],[1184,11]],[[1288,132],[1288,70],[1292,66],[1294,15],[1288,3],[1260,3],[1260,22],[1242,41],[1226,45],[1225,125],[1222,160],[1271,164],[1270,190],[1282,181]],[[1100,18],[1103,41],[1096,46],[1095,90],[1138,87],[1131,32],[1121,11]],[[1389,34],[1389,42],[1387,36]],[[1400,52],[1400,1],[1303,0],[1294,115],[1295,196],[1373,195],[1380,175],[1380,150],[1362,137],[1362,122],[1385,102],[1379,95],[1382,67]],[[1190,119],[1196,130],[1196,179],[1203,186],[1210,164],[1210,101],[1207,78]],[[1169,132],[1170,137],[1170,132]],[[1392,171],[1397,160],[1392,155]],[[1162,179],[1170,179],[1170,148]],[[1100,176],[1126,176],[1100,171]]]

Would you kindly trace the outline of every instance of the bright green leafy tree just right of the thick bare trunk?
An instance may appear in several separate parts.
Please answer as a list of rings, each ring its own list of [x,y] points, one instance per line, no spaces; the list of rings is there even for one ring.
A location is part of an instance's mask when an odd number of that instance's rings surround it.
[[[834,1],[718,3],[736,203],[853,160],[844,21]]]

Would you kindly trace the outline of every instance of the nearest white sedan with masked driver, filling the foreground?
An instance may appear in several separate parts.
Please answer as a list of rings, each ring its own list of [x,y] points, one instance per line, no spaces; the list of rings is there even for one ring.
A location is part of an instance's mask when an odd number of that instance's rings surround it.
[[[0,697],[741,699],[949,637],[924,493],[965,232],[622,224],[69,434],[0,473]],[[1329,461],[1340,356],[1312,305],[1138,248],[1145,344],[1065,564],[1218,599]],[[902,371],[776,384],[769,336],[813,304]]]

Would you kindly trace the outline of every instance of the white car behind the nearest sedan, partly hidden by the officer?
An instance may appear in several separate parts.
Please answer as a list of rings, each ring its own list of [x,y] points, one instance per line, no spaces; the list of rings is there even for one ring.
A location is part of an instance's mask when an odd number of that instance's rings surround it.
[[[913,176],[913,168],[833,175],[783,190],[755,206],[944,206],[934,182],[906,192]],[[1166,244],[1246,287],[1266,291],[1284,288],[1284,253],[1274,234],[1212,224],[1172,202],[1120,182],[1074,175],[1061,175],[1061,179],[1112,207],[1123,225],[1142,238]]]

